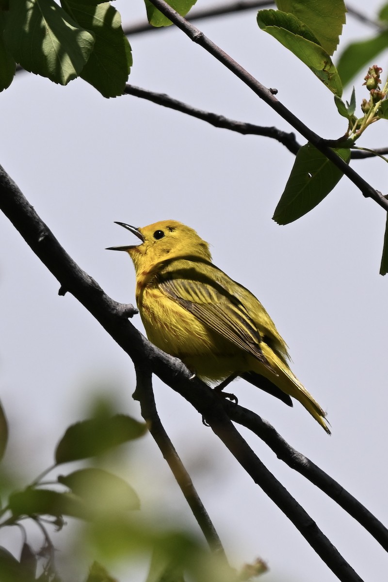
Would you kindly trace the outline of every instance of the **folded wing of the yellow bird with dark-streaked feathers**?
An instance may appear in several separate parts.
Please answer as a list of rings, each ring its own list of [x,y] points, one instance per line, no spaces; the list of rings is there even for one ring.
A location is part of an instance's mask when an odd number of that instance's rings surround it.
[[[262,353],[257,326],[233,294],[236,286],[239,284],[210,262],[179,260],[158,278],[163,293],[272,370]]]

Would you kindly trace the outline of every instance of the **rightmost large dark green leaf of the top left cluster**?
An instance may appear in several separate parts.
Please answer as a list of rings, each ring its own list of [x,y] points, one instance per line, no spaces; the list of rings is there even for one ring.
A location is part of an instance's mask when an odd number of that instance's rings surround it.
[[[84,29],[95,44],[80,77],[104,97],[122,95],[132,65],[131,47],[124,36],[120,13],[109,2],[97,6],[88,0],[61,0],[62,7]]]

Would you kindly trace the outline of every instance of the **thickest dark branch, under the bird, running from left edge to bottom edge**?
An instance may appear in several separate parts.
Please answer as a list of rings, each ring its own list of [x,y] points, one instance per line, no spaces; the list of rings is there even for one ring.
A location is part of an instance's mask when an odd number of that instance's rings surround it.
[[[128,307],[121,310],[120,305],[80,269],[1,166],[0,208],[58,279],[61,289],[72,293],[94,315],[124,352],[129,354],[135,367],[147,367],[198,410],[248,474],[289,517],[336,576],[342,582],[362,582],[311,517],[255,456],[227,417],[220,397],[198,378],[190,379],[191,372],[180,360],[158,350],[123,317]]]

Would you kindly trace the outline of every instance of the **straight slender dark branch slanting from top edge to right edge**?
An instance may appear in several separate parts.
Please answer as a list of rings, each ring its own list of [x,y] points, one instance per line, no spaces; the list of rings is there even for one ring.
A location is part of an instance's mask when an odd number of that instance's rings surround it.
[[[284,107],[284,105],[278,101],[271,93],[269,89],[264,87],[257,79],[255,79],[250,73],[248,73],[239,63],[234,61],[229,55],[226,54],[220,47],[218,47],[214,42],[207,38],[200,30],[198,30],[193,24],[190,24],[181,17],[175,10],[170,8],[170,6],[164,0],[149,0],[156,8],[158,8],[163,15],[167,16],[176,26],[184,32],[193,42],[204,48],[209,54],[214,56],[217,61],[222,63],[229,69],[233,74],[235,74],[247,87],[250,87],[252,91],[258,97],[260,97],[269,107],[276,111],[280,117],[285,119],[290,123],[294,129],[296,129],[305,139],[310,143],[315,145],[315,147],[322,152],[330,161],[332,161],[340,170],[343,172],[350,180],[361,190],[362,194],[366,198],[372,198],[382,206],[386,211],[388,211],[388,200],[383,196],[381,192],[375,190],[371,184],[366,182],[364,178],[359,176],[353,168],[350,168],[344,162],[343,159],[339,157],[328,145],[325,140],[314,133],[307,125],[301,122],[296,115],[291,113],[289,109]]]

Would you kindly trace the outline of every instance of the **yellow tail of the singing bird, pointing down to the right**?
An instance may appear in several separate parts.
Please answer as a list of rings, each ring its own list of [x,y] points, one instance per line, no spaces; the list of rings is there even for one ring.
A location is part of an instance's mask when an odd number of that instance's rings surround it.
[[[283,392],[293,396],[299,400],[301,404],[314,416],[315,420],[325,429],[328,434],[331,434],[326,419],[326,412],[319,406],[318,402],[312,398],[311,394],[307,392],[305,387],[300,383],[298,378],[293,374],[288,365],[272,352],[272,350],[262,344],[264,356],[270,362],[272,368],[276,371],[277,376],[271,377],[270,380],[276,384]],[[268,351],[268,354],[266,353]],[[261,372],[263,373],[263,372]]]

